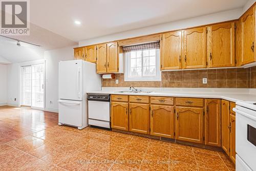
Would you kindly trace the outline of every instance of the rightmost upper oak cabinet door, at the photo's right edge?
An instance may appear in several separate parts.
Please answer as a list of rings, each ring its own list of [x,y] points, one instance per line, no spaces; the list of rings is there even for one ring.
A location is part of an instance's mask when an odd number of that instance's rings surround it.
[[[255,7],[242,17],[242,64],[255,61]]]

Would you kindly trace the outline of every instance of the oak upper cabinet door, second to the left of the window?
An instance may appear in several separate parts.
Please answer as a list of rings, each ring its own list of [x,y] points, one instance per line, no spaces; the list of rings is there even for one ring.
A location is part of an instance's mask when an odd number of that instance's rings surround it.
[[[106,44],[97,45],[97,73],[106,73]]]

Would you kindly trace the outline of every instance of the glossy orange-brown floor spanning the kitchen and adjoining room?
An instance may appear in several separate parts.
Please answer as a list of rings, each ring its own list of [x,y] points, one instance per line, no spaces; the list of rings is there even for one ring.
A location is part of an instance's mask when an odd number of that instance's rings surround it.
[[[1,170],[235,170],[224,153],[87,127],[57,114],[0,107]]]

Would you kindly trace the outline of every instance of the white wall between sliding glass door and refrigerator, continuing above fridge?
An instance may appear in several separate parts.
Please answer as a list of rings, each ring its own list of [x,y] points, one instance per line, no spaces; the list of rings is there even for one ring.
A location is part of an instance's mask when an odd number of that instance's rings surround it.
[[[58,112],[58,61],[73,60],[73,47],[45,52],[46,59],[46,111]],[[50,103],[52,101],[52,103]]]

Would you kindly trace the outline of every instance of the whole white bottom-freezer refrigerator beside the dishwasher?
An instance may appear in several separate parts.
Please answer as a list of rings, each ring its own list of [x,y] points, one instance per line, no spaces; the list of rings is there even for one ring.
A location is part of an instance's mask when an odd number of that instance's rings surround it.
[[[59,125],[88,126],[87,92],[101,90],[95,63],[84,60],[59,61]]]

